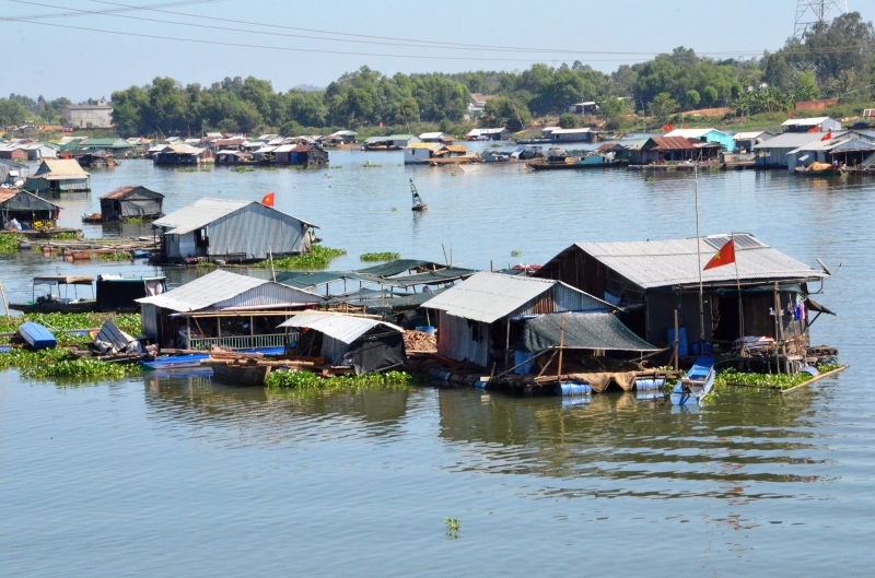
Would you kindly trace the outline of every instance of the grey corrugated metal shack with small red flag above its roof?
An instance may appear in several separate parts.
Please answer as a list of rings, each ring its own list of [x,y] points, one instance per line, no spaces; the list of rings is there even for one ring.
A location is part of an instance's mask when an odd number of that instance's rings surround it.
[[[255,201],[200,199],[152,223],[165,261],[260,261],[310,252],[316,227]]]

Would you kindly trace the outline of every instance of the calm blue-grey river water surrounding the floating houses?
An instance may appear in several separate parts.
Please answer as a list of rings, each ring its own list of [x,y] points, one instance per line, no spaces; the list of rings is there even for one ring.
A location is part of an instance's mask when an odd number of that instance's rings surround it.
[[[362,165],[371,162],[372,167]],[[165,212],[260,198],[330,247],[466,267],[541,263],[572,243],[695,235],[691,175],[400,166],[198,172],[142,161],[93,172],[61,223],[130,184]],[[408,179],[429,204],[412,215]],[[703,234],[749,232],[833,272],[813,341],[851,368],[793,393],[727,390],[699,413],[633,394],[567,405],[422,387],[304,396],[136,377],[68,386],[0,373],[0,567],[5,576],[766,576],[871,565],[875,329],[873,180],[704,173]],[[396,209],[396,210],[393,210]],[[86,235],[151,235],[86,226]],[[522,256],[511,257],[511,251]],[[73,266],[0,256],[8,297]],[[172,284],[191,271],[168,269]],[[444,518],[459,520],[457,538]]]

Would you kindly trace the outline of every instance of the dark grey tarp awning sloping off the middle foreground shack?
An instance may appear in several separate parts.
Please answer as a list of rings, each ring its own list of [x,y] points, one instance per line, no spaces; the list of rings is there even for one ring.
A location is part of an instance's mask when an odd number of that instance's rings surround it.
[[[622,325],[614,314],[549,314],[523,321],[523,332],[517,341],[517,351],[539,353],[559,345],[565,319],[565,347],[608,351],[656,351],[643,339]]]

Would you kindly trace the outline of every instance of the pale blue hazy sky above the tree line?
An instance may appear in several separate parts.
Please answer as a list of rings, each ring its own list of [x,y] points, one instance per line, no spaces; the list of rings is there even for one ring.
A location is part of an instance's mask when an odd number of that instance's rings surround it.
[[[866,20],[875,17],[875,1],[848,4]],[[183,84],[254,75],[285,91],[325,86],[364,64],[394,74],[522,70],[534,62],[581,60],[610,72],[680,45],[719,58],[749,58],[783,45],[793,34],[796,9],[793,0],[2,0],[0,5],[3,19],[42,23],[0,21],[8,64],[0,95],[73,101],[108,98],[114,90],[156,75]],[[11,67],[9,59],[14,59]]]

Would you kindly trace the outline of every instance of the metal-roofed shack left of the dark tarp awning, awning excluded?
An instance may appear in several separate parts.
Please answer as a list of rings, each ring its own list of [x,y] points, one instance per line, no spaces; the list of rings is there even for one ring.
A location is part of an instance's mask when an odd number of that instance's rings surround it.
[[[520,330],[512,319],[561,311],[608,311],[612,307],[565,283],[480,272],[444,291],[423,307],[438,310],[438,353],[488,367],[510,363]]]

